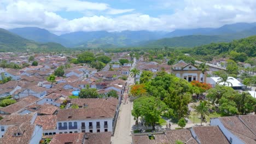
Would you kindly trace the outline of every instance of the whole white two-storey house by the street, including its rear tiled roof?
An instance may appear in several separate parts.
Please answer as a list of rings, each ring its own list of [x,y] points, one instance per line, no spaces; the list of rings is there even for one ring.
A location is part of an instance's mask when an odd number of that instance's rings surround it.
[[[59,110],[56,133],[113,133],[118,99],[71,99],[69,103],[81,108]]]

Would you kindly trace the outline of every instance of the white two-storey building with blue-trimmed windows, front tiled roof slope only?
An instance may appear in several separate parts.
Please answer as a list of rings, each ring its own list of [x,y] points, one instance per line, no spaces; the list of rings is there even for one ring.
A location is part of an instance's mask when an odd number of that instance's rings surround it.
[[[113,118],[101,108],[59,110],[57,113],[57,133],[113,131]]]

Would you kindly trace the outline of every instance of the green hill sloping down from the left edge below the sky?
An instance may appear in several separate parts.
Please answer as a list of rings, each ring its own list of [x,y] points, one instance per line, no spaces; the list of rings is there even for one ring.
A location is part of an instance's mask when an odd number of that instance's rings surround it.
[[[66,47],[57,43],[36,43],[0,28],[0,52],[48,52],[65,49]]]

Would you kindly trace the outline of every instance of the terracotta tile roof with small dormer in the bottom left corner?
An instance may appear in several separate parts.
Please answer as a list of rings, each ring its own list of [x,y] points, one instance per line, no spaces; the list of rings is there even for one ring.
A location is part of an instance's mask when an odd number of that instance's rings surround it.
[[[23,123],[8,127],[4,133],[1,143],[31,143],[36,124]],[[22,133],[21,136],[14,136],[14,133]]]

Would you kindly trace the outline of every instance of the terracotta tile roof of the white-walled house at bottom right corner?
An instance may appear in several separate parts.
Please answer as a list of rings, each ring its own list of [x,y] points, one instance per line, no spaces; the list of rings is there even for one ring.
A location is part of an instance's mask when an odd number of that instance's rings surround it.
[[[231,133],[238,136],[245,143],[255,143],[256,135],[252,132],[251,129],[241,121],[240,116],[232,116],[232,117],[219,117],[220,121]],[[256,117],[251,118],[243,118],[251,121],[249,119],[254,119],[255,122]]]

